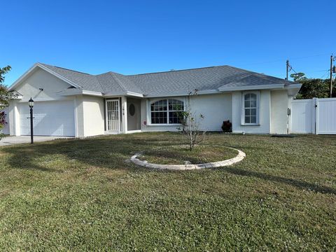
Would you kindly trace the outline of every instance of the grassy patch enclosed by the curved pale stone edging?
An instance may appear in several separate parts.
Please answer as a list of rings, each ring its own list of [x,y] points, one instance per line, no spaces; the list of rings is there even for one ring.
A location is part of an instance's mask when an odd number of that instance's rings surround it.
[[[225,146],[200,145],[190,151],[188,146],[175,145],[144,151],[139,159],[160,165],[184,165],[186,162],[202,164],[228,160],[237,154],[237,151]]]

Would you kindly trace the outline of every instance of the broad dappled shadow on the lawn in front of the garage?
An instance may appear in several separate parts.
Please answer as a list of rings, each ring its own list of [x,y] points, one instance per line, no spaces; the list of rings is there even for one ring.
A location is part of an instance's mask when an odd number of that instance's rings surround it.
[[[63,162],[76,160],[83,165],[113,169],[127,169],[134,165],[125,160],[131,155],[153,146],[169,146],[171,141],[153,139],[132,139],[101,137],[92,139],[61,139],[34,145],[20,144],[4,146],[2,153],[8,154],[6,163],[15,169],[35,169],[41,172],[64,172],[63,167],[52,167],[48,161],[61,159]],[[40,161],[39,161],[40,160]]]

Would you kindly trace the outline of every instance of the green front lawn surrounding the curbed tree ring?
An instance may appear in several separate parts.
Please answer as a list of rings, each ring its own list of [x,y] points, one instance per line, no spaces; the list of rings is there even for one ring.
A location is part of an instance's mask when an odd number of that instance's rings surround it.
[[[335,251],[336,137],[210,134],[219,169],[127,159],[179,144],[145,133],[0,148],[0,251]]]

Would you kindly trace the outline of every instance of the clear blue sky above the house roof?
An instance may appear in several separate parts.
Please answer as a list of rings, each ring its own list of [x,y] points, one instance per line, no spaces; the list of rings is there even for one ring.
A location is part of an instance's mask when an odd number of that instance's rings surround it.
[[[35,62],[97,74],[229,64],[327,78],[336,1],[6,1],[0,66]],[[335,62],[336,63],[336,62]]]

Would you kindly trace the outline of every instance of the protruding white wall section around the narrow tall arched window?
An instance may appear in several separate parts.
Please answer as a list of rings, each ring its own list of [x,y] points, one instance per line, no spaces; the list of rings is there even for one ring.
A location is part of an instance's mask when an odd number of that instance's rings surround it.
[[[253,91],[254,92],[254,91]],[[270,90],[260,91],[259,100],[259,125],[242,125],[242,92],[232,92],[232,132],[249,134],[269,134],[270,132],[270,112],[271,112],[271,92]]]

